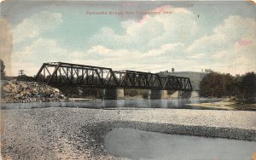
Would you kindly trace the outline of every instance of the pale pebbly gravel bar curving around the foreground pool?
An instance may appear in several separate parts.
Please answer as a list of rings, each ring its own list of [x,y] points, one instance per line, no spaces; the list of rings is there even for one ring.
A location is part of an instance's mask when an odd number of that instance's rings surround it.
[[[141,129],[256,141],[255,111],[86,109],[1,110],[3,159],[123,159],[105,151],[111,129]]]

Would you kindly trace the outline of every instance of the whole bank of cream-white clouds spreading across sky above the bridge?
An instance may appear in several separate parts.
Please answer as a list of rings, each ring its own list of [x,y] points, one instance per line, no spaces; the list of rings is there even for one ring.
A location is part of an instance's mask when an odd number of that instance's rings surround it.
[[[33,38],[32,43],[15,50],[14,72],[20,66],[25,69],[34,66],[28,69],[28,73],[34,75],[35,67],[39,69],[42,63],[49,61],[152,72],[172,67],[176,71],[211,68],[231,74],[255,71],[255,20],[230,16],[211,34],[198,37],[201,27],[207,26],[199,26],[197,17],[188,9],[163,6],[152,11],[157,10],[172,14],[143,14],[141,20],[120,21],[123,31],[104,26],[90,37],[82,50],[63,48],[57,40],[41,37],[43,32],[61,23],[61,14],[35,14],[14,29],[16,42]],[[42,20],[55,22],[41,26]],[[27,31],[28,35],[18,34],[26,26],[32,31]]]

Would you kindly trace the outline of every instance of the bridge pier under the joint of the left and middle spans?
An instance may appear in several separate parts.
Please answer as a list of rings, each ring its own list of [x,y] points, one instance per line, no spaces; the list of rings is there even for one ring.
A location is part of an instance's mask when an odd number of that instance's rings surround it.
[[[106,100],[124,99],[124,89],[102,89],[102,97]]]

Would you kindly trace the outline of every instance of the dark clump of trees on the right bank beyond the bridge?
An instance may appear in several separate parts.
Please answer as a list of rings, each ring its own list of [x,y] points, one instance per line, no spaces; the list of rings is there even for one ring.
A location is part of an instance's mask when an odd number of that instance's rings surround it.
[[[236,77],[208,70],[200,83],[202,97],[236,97],[241,103],[253,103],[256,94],[256,75],[248,72]]]

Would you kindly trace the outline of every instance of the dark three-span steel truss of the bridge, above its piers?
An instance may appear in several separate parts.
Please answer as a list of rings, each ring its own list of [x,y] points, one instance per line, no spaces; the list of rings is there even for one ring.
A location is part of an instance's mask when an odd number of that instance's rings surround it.
[[[189,77],[161,76],[142,71],[113,71],[111,68],[63,62],[44,63],[35,78],[51,86],[192,91]]]

